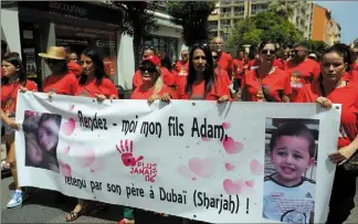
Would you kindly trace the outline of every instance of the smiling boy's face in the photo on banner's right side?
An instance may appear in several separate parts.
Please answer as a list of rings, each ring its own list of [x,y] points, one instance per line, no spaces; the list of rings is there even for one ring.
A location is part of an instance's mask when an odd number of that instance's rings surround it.
[[[270,157],[280,178],[286,181],[301,179],[315,161],[309,156],[308,140],[294,136],[280,137]]]

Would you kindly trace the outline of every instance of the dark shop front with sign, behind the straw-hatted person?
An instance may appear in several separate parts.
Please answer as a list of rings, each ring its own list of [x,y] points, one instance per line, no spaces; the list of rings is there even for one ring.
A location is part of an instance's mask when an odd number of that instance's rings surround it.
[[[3,10],[1,9],[1,13]],[[41,81],[50,75],[48,66],[38,56],[51,45],[60,45],[81,54],[86,47],[94,47],[104,57],[106,72],[117,83],[117,52],[120,41],[120,10],[106,7],[102,2],[72,1],[19,1],[12,6],[18,11],[21,56],[29,78]],[[7,41],[11,35],[1,26]],[[9,30],[9,29],[8,29]]]

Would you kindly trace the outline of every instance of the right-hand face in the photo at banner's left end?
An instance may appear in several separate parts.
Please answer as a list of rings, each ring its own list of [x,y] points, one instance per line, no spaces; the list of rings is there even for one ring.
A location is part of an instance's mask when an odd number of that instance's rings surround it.
[[[39,126],[39,143],[40,146],[50,151],[59,142],[59,126],[52,119],[42,121]]]

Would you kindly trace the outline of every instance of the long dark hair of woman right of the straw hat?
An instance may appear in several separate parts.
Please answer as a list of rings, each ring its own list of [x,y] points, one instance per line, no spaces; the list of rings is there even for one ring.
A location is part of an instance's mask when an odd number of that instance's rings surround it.
[[[82,52],[83,55],[90,57],[95,66],[95,77],[96,79],[96,85],[101,85],[103,78],[107,78],[107,75],[104,70],[104,63],[102,56],[98,54],[98,52],[94,49],[85,49]],[[81,74],[80,76],[80,85],[84,85],[86,83],[87,76],[85,74]]]

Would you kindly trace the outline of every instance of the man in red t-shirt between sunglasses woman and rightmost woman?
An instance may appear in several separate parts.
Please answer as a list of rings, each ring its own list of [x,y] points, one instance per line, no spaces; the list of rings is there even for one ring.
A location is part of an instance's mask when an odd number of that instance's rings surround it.
[[[288,75],[291,75],[291,97],[294,100],[299,88],[318,78],[320,67],[319,63],[308,58],[308,49],[303,43],[294,45],[292,55],[292,58],[287,62],[286,70]]]

